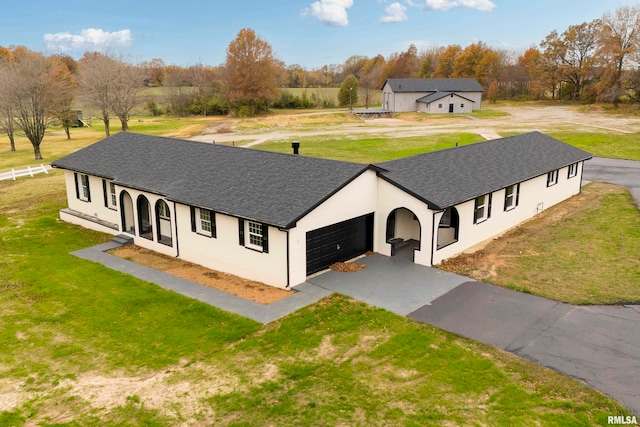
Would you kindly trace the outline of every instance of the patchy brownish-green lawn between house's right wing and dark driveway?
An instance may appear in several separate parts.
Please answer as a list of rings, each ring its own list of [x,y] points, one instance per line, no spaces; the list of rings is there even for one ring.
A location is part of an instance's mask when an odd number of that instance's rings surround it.
[[[572,304],[638,304],[640,211],[624,188],[594,182],[440,268]]]

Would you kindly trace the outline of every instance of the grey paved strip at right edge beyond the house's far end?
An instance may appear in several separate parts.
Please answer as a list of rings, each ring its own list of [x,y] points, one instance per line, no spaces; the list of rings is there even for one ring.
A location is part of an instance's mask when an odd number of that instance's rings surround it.
[[[623,185],[640,207],[640,162],[594,157],[584,163],[583,179]]]

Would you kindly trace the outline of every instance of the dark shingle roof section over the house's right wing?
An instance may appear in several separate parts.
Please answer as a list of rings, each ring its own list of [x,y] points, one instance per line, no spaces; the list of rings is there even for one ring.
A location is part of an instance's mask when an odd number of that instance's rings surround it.
[[[380,175],[444,209],[591,158],[586,151],[531,132],[378,163]]]

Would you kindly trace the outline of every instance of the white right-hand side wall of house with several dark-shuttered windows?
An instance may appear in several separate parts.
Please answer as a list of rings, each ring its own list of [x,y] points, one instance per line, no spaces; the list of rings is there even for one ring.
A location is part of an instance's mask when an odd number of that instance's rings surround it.
[[[479,224],[473,223],[474,200],[457,205],[456,209],[460,216],[458,241],[439,250],[436,249],[437,243],[435,243],[433,247],[433,263],[439,264],[444,259],[457,255],[478,243],[515,227],[535,216],[540,212],[540,209],[548,209],[578,194],[580,192],[580,177],[583,164],[579,164],[578,174],[573,178],[567,178],[568,168],[560,169],[558,183],[551,187],[547,187],[546,174],[522,182],[520,184],[518,206],[506,212],[504,211],[505,190],[493,192],[491,217]],[[440,222],[441,217],[442,213],[436,214],[436,224]]]

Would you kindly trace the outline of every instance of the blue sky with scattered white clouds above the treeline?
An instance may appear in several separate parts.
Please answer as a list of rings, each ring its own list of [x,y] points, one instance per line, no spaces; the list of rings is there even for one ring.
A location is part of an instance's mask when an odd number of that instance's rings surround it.
[[[482,41],[524,51],[551,31],[589,22],[633,0],[22,0],[7,2],[0,46],[76,59],[86,51],[161,58],[180,66],[224,63],[242,28],[287,65],[313,69],[407,50]],[[105,5],[105,7],[102,7]]]

